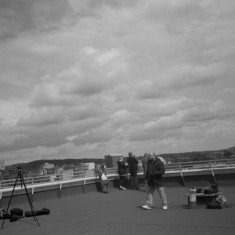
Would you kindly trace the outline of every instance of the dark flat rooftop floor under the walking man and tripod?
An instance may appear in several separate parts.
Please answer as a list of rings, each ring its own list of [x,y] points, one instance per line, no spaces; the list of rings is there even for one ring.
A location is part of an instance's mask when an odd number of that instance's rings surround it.
[[[214,210],[206,209],[206,205],[188,209],[185,187],[165,188],[168,210],[161,209],[157,192],[154,207],[146,211],[141,208],[145,204],[145,192],[116,188],[111,188],[109,194],[73,191],[57,198],[36,198],[33,201],[35,210],[48,208],[51,212],[37,217],[40,226],[33,217],[16,222],[5,220],[0,234],[235,234],[235,187],[220,189],[229,207]],[[30,210],[26,197],[18,204],[13,197],[11,204],[24,211]]]

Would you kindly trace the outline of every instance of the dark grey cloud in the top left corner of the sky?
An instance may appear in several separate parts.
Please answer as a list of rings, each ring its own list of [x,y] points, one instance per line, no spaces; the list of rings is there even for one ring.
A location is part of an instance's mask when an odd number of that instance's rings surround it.
[[[64,0],[11,0],[0,2],[0,38],[16,37],[31,30],[51,30],[68,23],[72,8]],[[71,21],[70,21],[71,23]]]

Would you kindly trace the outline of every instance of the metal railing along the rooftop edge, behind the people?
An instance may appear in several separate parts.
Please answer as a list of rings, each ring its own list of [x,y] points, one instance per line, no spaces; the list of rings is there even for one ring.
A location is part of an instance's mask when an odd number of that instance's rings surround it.
[[[214,170],[214,169],[229,169],[235,168],[235,159],[221,159],[221,160],[207,160],[207,161],[193,161],[193,162],[178,162],[166,164],[166,173],[170,172],[184,172],[195,170]],[[142,167],[139,168],[139,174],[142,174]],[[108,176],[117,175],[117,168],[107,168]],[[89,171],[75,171],[66,174],[55,175],[42,175],[37,177],[24,178],[26,185],[40,185],[50,182],[62,182],[73,179],[85,179],[89,177],[96,178],[97,175],[94,170]],[[0,189],[12,188],[16,179],[2,180],[0,181]],[[18,181],[16,186],[21,186],[21,182]]]

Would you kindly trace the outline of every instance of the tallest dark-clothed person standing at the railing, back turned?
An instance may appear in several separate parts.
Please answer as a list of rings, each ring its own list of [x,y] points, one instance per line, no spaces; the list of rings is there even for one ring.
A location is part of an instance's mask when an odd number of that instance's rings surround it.
[[[131,188],[139,190],[138,177],[137,177],[139,162],[132,152],[128,153],[127,163],[129,165]]]

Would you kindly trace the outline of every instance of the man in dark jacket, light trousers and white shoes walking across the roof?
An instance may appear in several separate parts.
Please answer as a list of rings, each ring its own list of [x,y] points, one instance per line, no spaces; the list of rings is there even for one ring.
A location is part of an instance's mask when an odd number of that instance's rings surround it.
[[[165,173],[165,165],[162,158],[156,157],[154,153],[149,154],[147,162],[146,182],[147,182],[147,204],[142,206],[146,210],[150,210],[153,206],[153,194],[157,189],[161,201],[162,209],[167,210],[167,198],[163,187],[163,174]]]

